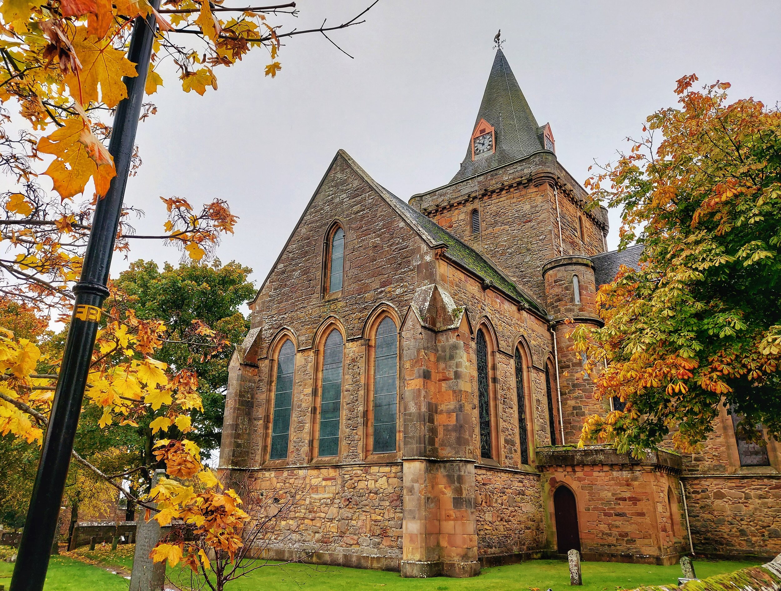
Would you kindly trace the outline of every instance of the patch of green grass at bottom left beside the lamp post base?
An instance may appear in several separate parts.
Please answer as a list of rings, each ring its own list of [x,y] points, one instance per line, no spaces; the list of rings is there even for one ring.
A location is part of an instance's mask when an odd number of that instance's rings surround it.
[[[9,588],[13,564],[0,562],[0,584]],[[45,591],[127,591],[128,581],[102,568],[74,561],[64,556],[52,556],[46,573]]]

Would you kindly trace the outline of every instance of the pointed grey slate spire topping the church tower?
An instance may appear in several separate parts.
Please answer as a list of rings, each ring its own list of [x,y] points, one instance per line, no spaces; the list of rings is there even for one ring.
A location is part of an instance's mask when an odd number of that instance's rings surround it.
[[[494,127],[496,149],[487,155],[475,155],[473,160],[470,138],[461,169],[451,182],[468,179],[543,149],[543,128],[537,125],[537,119],[534,119],[501,48],[497,49],[494,65],[491,66],[473,130],[481,120]]]

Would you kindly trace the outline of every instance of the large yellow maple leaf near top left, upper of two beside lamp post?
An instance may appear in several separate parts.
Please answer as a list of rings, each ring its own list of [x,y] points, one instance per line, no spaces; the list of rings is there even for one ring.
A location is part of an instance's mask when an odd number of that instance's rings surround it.
[[[101,101],[109,108],[116,107],[127,97],[122,76],[138,76],[134,63],[126,57],[125,51],[119,51],[111,43],[98,41],[94,35],[88,36],[86,27],[77,27],[73,48],[81,62],[81,70],[65,76],[71,96],[81,104],[97,102],[99,86]]]

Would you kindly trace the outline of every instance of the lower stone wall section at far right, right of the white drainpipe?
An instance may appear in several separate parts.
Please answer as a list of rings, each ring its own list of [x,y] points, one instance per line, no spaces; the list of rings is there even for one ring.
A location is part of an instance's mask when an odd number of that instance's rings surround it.
[[[747,558],[781,552],[781,479],[686,476],[683,483],[697,554]]]

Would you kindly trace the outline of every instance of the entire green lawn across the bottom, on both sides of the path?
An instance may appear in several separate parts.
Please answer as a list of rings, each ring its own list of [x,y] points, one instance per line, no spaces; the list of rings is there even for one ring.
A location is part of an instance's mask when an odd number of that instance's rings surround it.
[[[95,552],[86,549],[77,553],[97,564],[130,568],[132,547],[98,547]],[[704,579],[722,572],[746,568],[757,562],[695,561],[697,575]],[[12,564],[0,562],[0,584],[8,589]],[[104,567],[105,568],[105,567]],[[128,582],[104,568],[74,561],[70,557],[52,557],[45,591],[127,591]],[[173,573],[172,573],[173,574]],[[647,564],[619,564],[614,562],[584,562],[582,591],[618,591],[641,585],[676,584],[680,567],[649,566]],[[174,576],[174,582],[177,582]],[[182,579],[183,581],[185,579]],[[553,589],[565,591],[569,587],[569,571],[564,561],[529,561],[495,568],[483,568],[474,579],[401,579],[395,572],[366,571],[355,568],[324,567],[308,564],[269,564],[251,575],[228,585],[229,591],[530,591]]]

